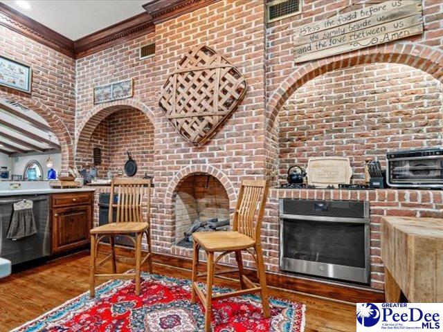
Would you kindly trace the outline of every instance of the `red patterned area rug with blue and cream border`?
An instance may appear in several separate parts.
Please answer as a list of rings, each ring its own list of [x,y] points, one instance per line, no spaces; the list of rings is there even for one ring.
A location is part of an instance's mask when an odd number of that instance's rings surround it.
[[[215,287],[217,293],[232,291]],[[14,331],[140,331],[192,332],[204,329],[204,308],[190,302],[190,281],[143,273],[141,295],[134,282],[112,280],[62,304]],[[257,295],[242,295],[213,302],[213,331],[301,332],[305,305],[270,299],[271,318],[262,315]]]

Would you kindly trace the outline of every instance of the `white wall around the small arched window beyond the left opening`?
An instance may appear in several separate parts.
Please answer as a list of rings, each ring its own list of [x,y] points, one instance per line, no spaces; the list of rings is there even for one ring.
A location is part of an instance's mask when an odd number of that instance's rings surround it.
[[[17,174],[23,176],[26,164],[30,160],[37,160],[40,165],[42,165],[44,179],[48,178],[48,170],[46,167],[46,159],[48,154],[40,154],[36,156],[19,156],[19,157],[9,157],[7,154],[0,153],[0,167],[6,166],[10,169],[10,174]],[[57,171],[57,176],[60,174],[60,169],[62,168],[62,154],[51,154],[53,158],[53,169]]]

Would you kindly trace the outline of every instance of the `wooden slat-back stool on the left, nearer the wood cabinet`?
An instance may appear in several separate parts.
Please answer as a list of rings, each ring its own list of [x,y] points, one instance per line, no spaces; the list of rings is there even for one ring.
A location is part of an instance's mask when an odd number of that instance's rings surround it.
[[[118,194],[118,201],[114,203],[115,191]],[[143,202],[145,199],[146,202]],[[152,252],[150,235],[150,200],[151,200],[151,179],[138,178],[115,178],[111,183],[111,195],[109,198],[109,223],[101,225],[91,230],[91,277],[90,295],[96,295],[96,278],[106,279],[135,279],[136,295],[140,294],[141,266],[148,261],[149,272],[152,273]],[[116,222],[114,222],[114,208],[117,208]],[[143,208],[147,209],[147,218],[143,218]],[[135,239],[133,238],[135,234]],[[143,234],[147,237],[148,252],[145,258],[141,258],[141,242]],[[135,258],[116,257],[115,241],[116,235],[129,237],[134,241]],[[111,244],[111,254],[96,264],[98,243],[105,237],[109,237]],[[96,274],[96,268],[112,261],[112,274]],[[116,261],[134,262],[136,272],[131,274],[117,273]]]

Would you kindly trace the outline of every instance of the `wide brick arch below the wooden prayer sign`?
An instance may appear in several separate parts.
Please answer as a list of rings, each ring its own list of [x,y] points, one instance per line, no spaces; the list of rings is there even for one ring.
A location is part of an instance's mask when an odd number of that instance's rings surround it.
[[[277,130],[278,112],[289,97],[306,82],[335,69],[349,68],[359,64],[374,63],[406,64],[420,69],[437,80],[443,82],[443,50],[431,48],[422,44],[399,42],[396,44],[384,44],[359,50],[352,53],[334,55],[325,59],[318,59],[296,68],[284,82],[278,86],[267,104],[268,132]]]

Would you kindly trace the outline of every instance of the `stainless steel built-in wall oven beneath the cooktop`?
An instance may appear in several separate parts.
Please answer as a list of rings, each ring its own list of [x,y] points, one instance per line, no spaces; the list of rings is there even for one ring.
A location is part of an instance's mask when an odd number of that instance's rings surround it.
[[[369,203],[281,199],[280,268],[368,284]]]

